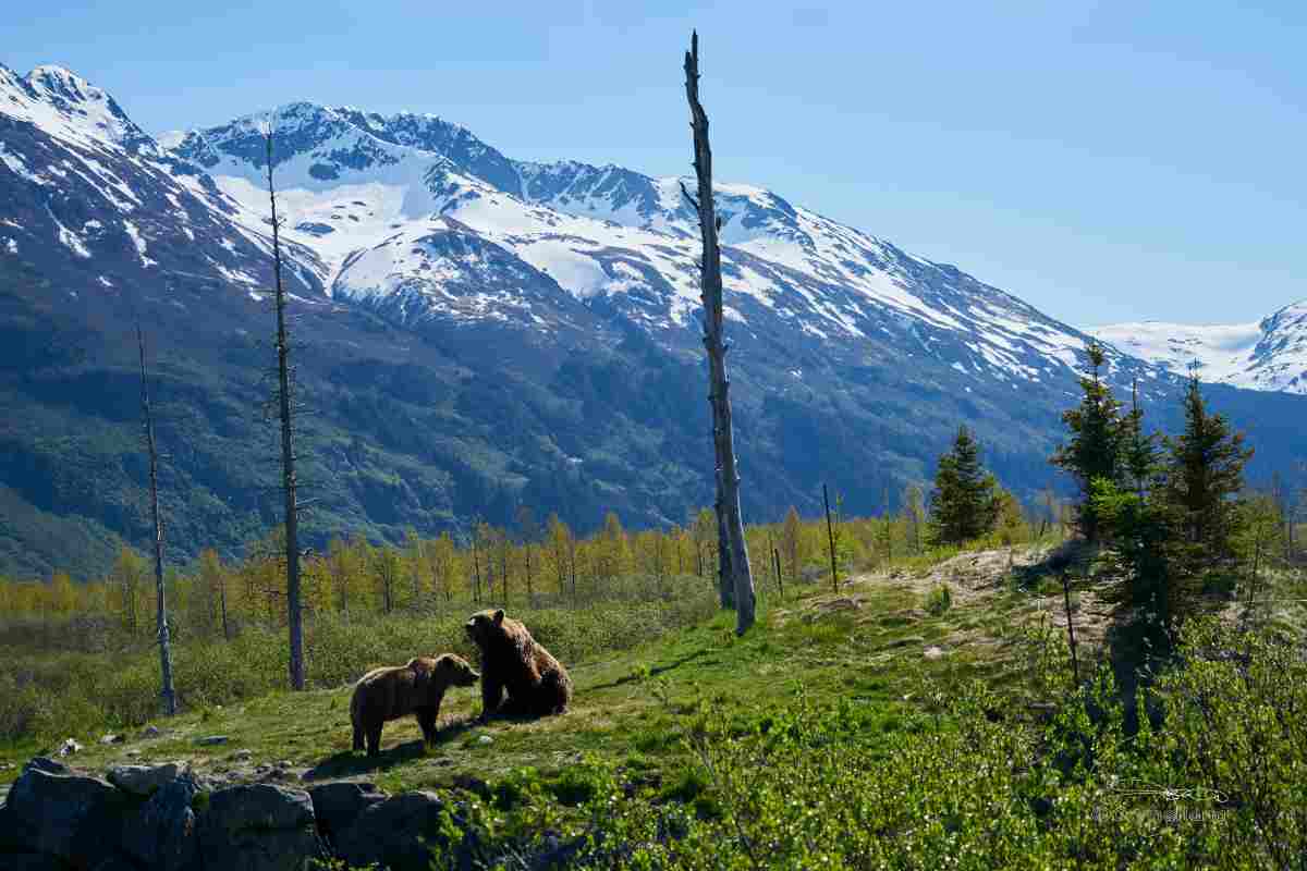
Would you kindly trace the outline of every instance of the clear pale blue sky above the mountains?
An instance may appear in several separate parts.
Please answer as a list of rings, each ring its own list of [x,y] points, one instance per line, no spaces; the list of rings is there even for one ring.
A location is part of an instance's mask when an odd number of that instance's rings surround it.
[[[689,171],[699,29],[719,180],[1050,315],[1252,321],[1307,298],[1307,4],[22,4],[150,132],[295,99],[435,112],[510,157]]]

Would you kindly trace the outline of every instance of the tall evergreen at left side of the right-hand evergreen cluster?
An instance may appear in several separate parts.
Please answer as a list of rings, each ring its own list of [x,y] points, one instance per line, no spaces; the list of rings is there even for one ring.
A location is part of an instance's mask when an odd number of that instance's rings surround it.
[[[1063,422],[1070,430],[1070,440],[1053,452],[1053,465],[1064,469],[1080,484],[1081,501],[1076,507],[1076,524],[1089,541],[1098,541],[1102,521],[1094,505],[1093,491],[1097,479],[1112,484],[1121,481],[1121,426],[1120,404],[1103,383],[1100,372],[1106,362],[1103,346],[1090,340],[1085,349],[1087,362],[1080,388],[1085,392],[1080,405],[1063,413]]]

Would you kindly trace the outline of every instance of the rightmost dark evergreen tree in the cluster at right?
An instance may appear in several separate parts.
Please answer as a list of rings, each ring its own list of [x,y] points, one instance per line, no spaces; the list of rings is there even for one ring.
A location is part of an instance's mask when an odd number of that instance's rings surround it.
[[[1167,439],[1170,452],[1165,499],[1176,515],[1182,541],[1195,559],[1208,564],[1234,554],[1238,525],[1231,496],[1243,490],[1243,466],[1252,448],[1231,432],[1225,415],[1209,414],[1197,375],[1184,396],[1184,432]]]

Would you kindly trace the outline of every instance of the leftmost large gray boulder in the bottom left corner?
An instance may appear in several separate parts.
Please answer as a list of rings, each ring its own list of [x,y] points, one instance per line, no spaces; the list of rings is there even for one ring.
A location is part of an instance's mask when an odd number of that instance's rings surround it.
[[[116,849],[129,803],[99,778],[34,759],[9,790],[4,825],[21,833],[24,849],[90,868]]]

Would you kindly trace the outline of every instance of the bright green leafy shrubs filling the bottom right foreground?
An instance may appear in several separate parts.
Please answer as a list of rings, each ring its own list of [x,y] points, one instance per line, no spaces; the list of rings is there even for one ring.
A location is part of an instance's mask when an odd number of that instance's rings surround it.
[[[1064,652],[1033,653],[1064,666]],[[1134,731],[1106,666],[1076,692],[1040,669],[1056,692],[1046,725],[979,683],[931,693],[938,713],[902,727],[873,727],[848,700],[800,699],[745,726],[689,714],[694,773],[596,790],[570,867],[1297,867],[1307,663],[1212,623],[1180,653],[1131,700],[1151,712]]]

